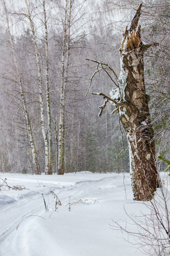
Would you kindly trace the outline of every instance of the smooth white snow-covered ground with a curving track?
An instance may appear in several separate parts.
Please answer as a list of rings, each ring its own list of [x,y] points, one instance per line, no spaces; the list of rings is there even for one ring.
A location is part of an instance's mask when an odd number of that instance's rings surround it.
[[[144,255],[111,226],[112,220],[127,219],[124,208],[129,214],[138,214],[144,207],[143,203],[133,201],[129,174],[125,178],[123,174],[90,172],[63,176],[0,174],[0,177],[6,178],[11,187],[24,185],[29,189],[0,192],[0,255]],[[62,204],[54,212],[51,190]],[[71,203],[82,199],[71,205],[70,211],[69,197]],[[29,215],[39,215],[45,220],[38,216],[25,218]]]

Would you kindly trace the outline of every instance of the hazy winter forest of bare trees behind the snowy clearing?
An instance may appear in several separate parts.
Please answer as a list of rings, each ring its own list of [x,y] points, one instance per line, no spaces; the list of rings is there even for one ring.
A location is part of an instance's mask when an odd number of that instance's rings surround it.
[[[129,171],[127,139],[105,72],[89,78],[88,59],[117,74],[122,33],[140,1],[1,1],[0,161],[2,172],[46,174]],[[143,1],[145,83],[157,153],[169,156],[170,3]],[[122,145],[123,141],[123,145]],[[124,150],[123,150],[124,147]],[[124,152],[125,151],[125,152]],[[120,153],[121,152],[121,153]],[[120,153],[120,154],[119,154]],[[158,163],[164,169],[162,162]]]

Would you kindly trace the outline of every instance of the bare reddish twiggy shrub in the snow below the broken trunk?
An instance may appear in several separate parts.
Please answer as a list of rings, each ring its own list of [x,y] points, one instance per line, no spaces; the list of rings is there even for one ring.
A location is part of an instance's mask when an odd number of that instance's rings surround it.
[[[137,203],[143,208],[140,214],[127,212],[124,206],[129,221],[112,220],[112,229],[127,235],[125,240],[145,255],[170,255],[170,192],[162,184],[151,201]],[[134,226],[133,231],[131,226]]]

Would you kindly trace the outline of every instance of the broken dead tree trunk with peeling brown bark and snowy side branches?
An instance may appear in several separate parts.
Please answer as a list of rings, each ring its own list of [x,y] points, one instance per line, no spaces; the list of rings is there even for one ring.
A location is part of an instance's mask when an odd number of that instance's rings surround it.
[[[154,44],[146,44],[140,38],[140,25],[138,21],[142,4],[136,10],[131,23],[123,33],[120,51],[119,78],[109,64],[97,62],[97,70],[90,79],[90,85],[95,74],[104,70],[116,85],[110,92],[111,97],[103,93],[105,102],[99,108],[101,116],[107,102],[112,102],[118,111],[129,145],[130,175],[132,180],[134,200],[151,200],[157,187],[159,187],[158,173],[155,165],[155,147],[153,141],[153,128],[149,121],[149,96],[146,94],[144,82],[144,52]],[[88,59],[89,60],[89,59]],[[111,73],[110,73],[111,71]],[[115,76],[115,80],[112,78]],[[116,81],[116,82],[115,82]],[[89,90],[89,89],[88,89]],[[88,92],[87,90],[87,92]]]

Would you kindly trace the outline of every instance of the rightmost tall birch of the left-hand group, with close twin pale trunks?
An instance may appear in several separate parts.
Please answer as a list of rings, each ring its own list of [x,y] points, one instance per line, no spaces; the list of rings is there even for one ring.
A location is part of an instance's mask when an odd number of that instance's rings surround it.
[[[65,0],[65,18],[63,19],[63,45],[62,45],[62,75],[60,89],[60,118],[59,118],[59,139],[58,139],[58,174],[64,174],[64,155],[65,155],[65,97],[68,87],[68,70],[70,50],[85,35],[82,33],[86,21],[84,19],[84,1]],[[66,58],[65,58],[66,55]],[[63,157],[62,157],[63,155]],[[62,163],[63,162],[63,163]]]

